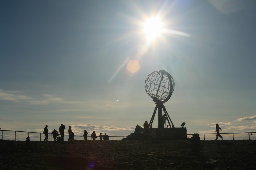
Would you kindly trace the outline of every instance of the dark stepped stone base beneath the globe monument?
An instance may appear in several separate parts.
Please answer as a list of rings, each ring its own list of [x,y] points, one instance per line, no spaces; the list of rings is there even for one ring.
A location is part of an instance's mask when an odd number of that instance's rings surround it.
[[[151,128],[147,134],[131,133],[122,140],[150,140],[152,130],[156,132],[156,140],[187,140],[187,128]]]

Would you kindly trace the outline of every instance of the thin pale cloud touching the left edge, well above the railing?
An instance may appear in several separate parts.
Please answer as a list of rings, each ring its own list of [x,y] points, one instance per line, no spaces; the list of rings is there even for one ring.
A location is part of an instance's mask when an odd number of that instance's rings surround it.
[[[12,94],[14,93],[14,94]],[[0,89],[0,100],[8,100],[13,102],[18,102],[21,100],[29,100],[32,99],[31,97],[25,95],[16,95],[18,91],[4,91]]]

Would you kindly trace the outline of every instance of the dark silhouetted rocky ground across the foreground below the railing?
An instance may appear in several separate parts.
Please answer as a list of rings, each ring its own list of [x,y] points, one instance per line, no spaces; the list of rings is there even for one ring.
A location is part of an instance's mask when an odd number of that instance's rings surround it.
[[[251,144],[251,145],[250,145]],[[200,152],[189,141],[0,140],[0,169],[154,170],[256,169],[253,141],[201,141]]]

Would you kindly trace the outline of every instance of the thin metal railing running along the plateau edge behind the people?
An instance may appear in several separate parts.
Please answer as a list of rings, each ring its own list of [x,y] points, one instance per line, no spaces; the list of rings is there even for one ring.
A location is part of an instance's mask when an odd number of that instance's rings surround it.
[[[1,131],[1,134],[2,134],[2,140],[3,140],[3,132],[14,132],[14,134],[12,134],[12,135],[9,135],[9,136],[14,136],[14,140],[16,141],[16,137],[17,137],[17,132],[19,132],[19,133],[27,133],[28,135],[27,136],[29,136],[29,134],[40,134],[40,141],[42,141],[41,140],[41,138],[42,138],[42,134],[43,133],[41,133],[41,132],[27,132],[27,131],[11,131],[11,130],[0,130]],[[233,140],[234,140],[234,134],[248,134],[248,138],[249,138],[249,140],[250,140],[250,135],[253,135],[253,133],[256,133],[256,132],[237,132],[237,133],[220,133],[220,134],[232,134],[232,137],[231,138],[233,138]],[[51,133],[49,133],[49,135],[51,135],[51,141],[53,141],[53,135],[51,134]],[[187,134],[187,136],[189,136],[189,138],[191,138],[191,136],[192,136],[193,134]],[[211,136],[213,136],[213,135],[216,135],[216,133],[201,133],[201,134],[199,134],[199,135],[203,135],[203,138],[204,138],[204,140],[205,140],[205,135],[211,135]],[[8,136],[8,135],[6,135],[6,136]],[[24,135],[19,135],[19,136],[22,136],[22,137],[24,137],[23,139],[25,140],[26,139],[26,137],[27,136],[24,136]],[[65,135],[65,136],[69,136],[69,135]],[[125,136],[109,136],[109,137],[122,137],[122,138],[124,138],[124,137],[126,137],[127,135],[125,135]],[[44,135],[43,135],[43,137],[44,137]],[[84,136],[79,136],[79,135],[74,135],[74,137],[78,137],[78,138],[80,138],[80,140],[82,140],[82,137],[84,137]],[[90,136],[87,136],[87,137],[90,137]],[[99,137],[99,136],[97,136],[97,137]],[[237,137],[238,138],[238,137]]]

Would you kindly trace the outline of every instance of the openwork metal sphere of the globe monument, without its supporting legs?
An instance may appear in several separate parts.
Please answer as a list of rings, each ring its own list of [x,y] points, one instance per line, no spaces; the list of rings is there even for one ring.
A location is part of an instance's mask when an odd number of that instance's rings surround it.
[[[174,91],[174,80],[165,70],[154,71],[145,80],[145,90],[156,103],[167,102]]]

